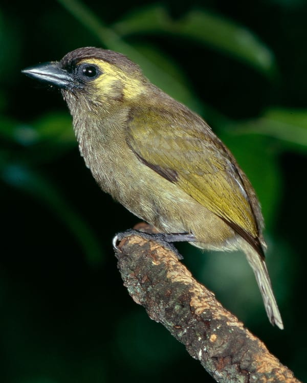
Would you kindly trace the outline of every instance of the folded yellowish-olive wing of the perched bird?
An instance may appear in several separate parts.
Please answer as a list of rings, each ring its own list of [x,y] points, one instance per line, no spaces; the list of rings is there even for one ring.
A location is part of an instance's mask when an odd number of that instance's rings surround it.
[[[245,238],[248,242],[257,240],[258,223],[242,171],[210,127],[199,116],[191,113],[191,117],[187,121],[186,116],[155,110],[135,112],[128,122],[128,145],[148,167],[176,183],[240,235],[251,237]],[[258,240],[253,246],[259,247]]]

